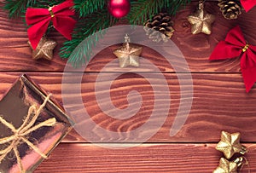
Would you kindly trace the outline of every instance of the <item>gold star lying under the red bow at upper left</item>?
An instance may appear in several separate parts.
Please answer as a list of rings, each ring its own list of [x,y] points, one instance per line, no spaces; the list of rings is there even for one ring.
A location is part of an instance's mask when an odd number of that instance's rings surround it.
[[[27,43],[32,48],[31,43],[29,41]],[[53,49],[55,49],[56,45],[57,43],[54,40],[42,37],[40,42],[38,43],[37,49],[32,49],[32,59],[38,60],[43,58],[46,60],[51,60],[53,57]]]

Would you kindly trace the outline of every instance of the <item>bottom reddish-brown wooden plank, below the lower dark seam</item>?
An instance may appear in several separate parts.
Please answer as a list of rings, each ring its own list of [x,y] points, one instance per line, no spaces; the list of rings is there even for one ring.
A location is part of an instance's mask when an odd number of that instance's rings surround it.
[[[111,145],[111,144],[109,144]],[[205,173],[218,166],[222,154],[216,144],[143,144],[140,147],[109,149],[93,144],[62,143],[37,172],[172,172]],[[241,173],[256,171],[255,144],[247,144],[249,165]],[[63,155],[63,153],[65,153]]]

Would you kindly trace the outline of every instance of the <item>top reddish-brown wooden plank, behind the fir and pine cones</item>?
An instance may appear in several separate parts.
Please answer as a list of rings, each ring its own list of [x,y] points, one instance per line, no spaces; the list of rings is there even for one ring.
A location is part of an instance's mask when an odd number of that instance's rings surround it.
[[[209,62],[208,56],[219,40],[223,40],[226,33],[236,25],[241,26],[248,43],[256,45],[256,26],[254,16],[256,9],[243,13],[238,20],[225,20],[218,10],[217,2],[207,2],[206,9],[209,13],[215,14],[216,21],[212,26],[212,35],[205,34],[192,35],[190,33],[190,25],[186,20],[188,14],[196,9],[197,2],[191,3],[187,9],[183,9],[177,13],[173,19],[175,22],[175,34],[172,41],[183,52],[186,61],[188,61],[191,72],[239,72],[239,60]],[[3,4],[2,4],[3,6]],[[61,43],[65,41],[58,32],[52,32],[49,37],[58,41],[58,47],[55,49],[53,61],[33,61],[31,59],[31,50],[27,45],[26,26],[23,25],[21,19],[9,20],[7,12],[0,9],[0,71],[38,71],[38,72],[62,72],[67,61],[63,61],[58,56]],[[117,32],[120,33],[120,32]],[[114,39],[114,37],[113,37]],[[108,43],[108,40],[103,40]],[[93,65],[87,68],[87,72],[99,72],[103,66],[115,57],[112,54],[113,49],[117,46],[99,52],[94,60]],[[163,57],[148,52],[147,48],[143,50],[143,57],[152,61],[158,66],[162,72],[173,72],[172,66],[168,65]],[[161,53],[161,52],[159,52]],[[147,70],[147,68],[141,68]],[[117,72],[115,66],[109,69],[109,72]]]

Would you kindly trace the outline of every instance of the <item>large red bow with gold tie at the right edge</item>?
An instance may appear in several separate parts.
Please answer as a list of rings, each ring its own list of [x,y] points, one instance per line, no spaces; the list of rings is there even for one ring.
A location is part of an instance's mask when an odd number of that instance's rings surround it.
[[[249,45],[239,26],[227,34],[225,41],[220,41],[213,50],[210,60],[236,58],[241,55],[241,72],[247,92],[256,82],[256,46]]]

